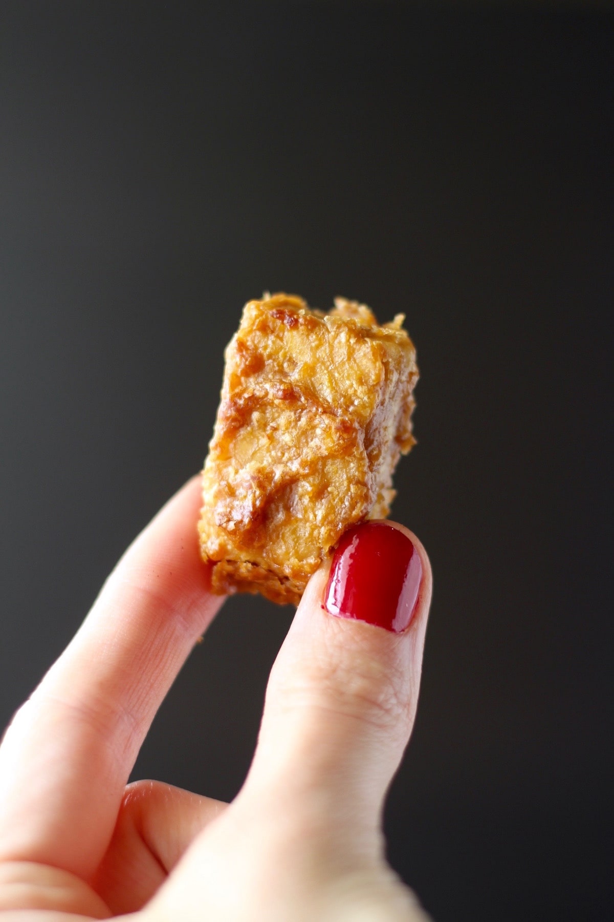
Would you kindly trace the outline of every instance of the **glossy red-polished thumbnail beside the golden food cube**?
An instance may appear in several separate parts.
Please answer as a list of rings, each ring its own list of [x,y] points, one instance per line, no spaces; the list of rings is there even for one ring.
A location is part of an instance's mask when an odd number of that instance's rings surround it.
[[[422,577],[420,555],[399,528],[364,522],[335,550],[323,608],[400,633],[409,627]]]

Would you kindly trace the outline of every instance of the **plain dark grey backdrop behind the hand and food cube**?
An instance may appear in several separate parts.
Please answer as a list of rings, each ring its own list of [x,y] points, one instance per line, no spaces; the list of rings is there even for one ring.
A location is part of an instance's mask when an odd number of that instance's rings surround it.
[[[407,314],[434,605],[390,860],[438,922],[611,918],[614,19],[0,6],[0,722],[202,464],[264,289]],[[136,775],[232,798],[291,609],[232,599]]]

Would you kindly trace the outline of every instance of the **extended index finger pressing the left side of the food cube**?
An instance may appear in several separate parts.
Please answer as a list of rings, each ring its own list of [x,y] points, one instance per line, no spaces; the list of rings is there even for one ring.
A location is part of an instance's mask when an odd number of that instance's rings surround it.
[[[0,747],[0,859],[88,878],[145,733],[221,604],[200,560],[198,479],[157,514]]]

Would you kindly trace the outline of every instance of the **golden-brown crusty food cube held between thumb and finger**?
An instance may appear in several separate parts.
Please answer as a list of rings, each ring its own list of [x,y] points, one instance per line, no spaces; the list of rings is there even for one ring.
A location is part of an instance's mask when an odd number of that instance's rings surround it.
[[[418,378],[402,321],[342,298],[329,313],[286,294],[246,304],[203,470],[214,592],[297,603],[346,528],[388,515]]]

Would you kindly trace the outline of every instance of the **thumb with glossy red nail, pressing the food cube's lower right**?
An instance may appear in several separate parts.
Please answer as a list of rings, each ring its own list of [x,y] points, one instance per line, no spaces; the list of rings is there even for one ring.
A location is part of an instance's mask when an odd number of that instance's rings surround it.
[[[272,668],[241,798],[274,797],[289,826],[300,817],[378,844],[371,833],[416,714],[431,592],[428,558],[406,528],[369,522],[342,539]]]

